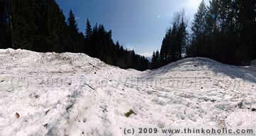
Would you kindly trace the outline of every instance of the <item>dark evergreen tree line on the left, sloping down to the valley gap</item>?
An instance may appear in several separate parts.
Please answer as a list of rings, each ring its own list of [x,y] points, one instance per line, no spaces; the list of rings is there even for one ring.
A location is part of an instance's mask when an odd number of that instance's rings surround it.
[[[90,25],[85,34],[78,30],[72,10],[65,21],[55,0],[1,0],[0,48],[36,52],[82,52],[123,69],[149,69],[149,61],[113,42],[112,31],[100,24]]]

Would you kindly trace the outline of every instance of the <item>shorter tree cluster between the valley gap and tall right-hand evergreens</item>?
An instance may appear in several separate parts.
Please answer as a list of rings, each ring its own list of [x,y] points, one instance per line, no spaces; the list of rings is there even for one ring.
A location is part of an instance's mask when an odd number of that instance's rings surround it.
[[[168,28],[161,44],[161,50],[153,52],[151,68],[155,69],[181,60],[186,53],[188,30],[185,11],[174,13],[172,27]]]

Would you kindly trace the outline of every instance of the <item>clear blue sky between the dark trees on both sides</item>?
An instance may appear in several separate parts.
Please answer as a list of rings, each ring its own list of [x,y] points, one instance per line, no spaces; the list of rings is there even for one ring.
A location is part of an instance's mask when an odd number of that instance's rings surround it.
[[[84,33],[86,19],[92,26],[103,24],[112,30],[112,39],[138,54],[160,50],[166,29],[171,26],[175,11],[186,10],[193,20],[201,0],[56,0],[68,18],[73,10],[79,30]],[[208,4],[208,0],[206,0]]]

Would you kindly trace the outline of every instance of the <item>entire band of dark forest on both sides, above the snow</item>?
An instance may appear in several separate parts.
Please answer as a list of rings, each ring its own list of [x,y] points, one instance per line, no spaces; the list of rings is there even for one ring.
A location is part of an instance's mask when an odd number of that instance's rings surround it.
[[[210,0],[198,6],[191,25],[185,11],[174,13],[161,50],[152,62],[113,42],[112,31],[100,24],[78,30],[70,10],[66,21],[54,0],[1,0],[0,48],[36,52],[83,52],[123,69],[155,69],[184,57],[208,57],[235,65],[256,59],[256,1]],[[189,29],[189,27],[191,29]]]

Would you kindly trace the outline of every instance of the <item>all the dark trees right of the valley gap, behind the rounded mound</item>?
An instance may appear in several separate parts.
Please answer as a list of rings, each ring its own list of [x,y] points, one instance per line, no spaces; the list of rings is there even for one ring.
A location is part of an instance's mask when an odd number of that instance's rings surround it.
[[[210,0],[209,6],[202,1],[189,33],[183,11],[174,13],[174,23],[160,52],[153,52],[151,65],[157,68],[183,57],[250,64],[256,59],[256,1]]]

